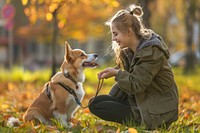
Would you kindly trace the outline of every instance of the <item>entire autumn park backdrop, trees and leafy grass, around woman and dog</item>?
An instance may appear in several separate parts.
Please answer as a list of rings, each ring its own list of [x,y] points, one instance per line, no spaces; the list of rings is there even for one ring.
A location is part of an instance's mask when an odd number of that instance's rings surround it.
[[[115,65],[105,22],[133,3],[143,8],[145,26],[161,35],[169,47],[180,96],[179,120],[171,132],[200,131],[200,0],[0,0],[0,132],[9,132],[10,116],[22,120],[42,86],[59,71],[65,41],[72,48],[99,55],[99,67],[85,70],[83,105],[87,105],[96,92],[97,73]],[[99,94],[107,94],[114,83],[114,78],[105,80]],[[81,111],[76,118],[85,119],[82,131],[98,129],[96,118],[88,119],[89,111],[83,111],[86,116]],[[107,122],[101,125],[106,130]],[[25,124],[10,132],[45,131],[44,126],[37,131],[32,126]]]

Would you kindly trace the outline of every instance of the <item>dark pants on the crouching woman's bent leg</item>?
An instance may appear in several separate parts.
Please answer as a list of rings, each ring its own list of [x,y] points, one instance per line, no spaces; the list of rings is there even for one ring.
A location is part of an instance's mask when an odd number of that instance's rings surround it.
[[[133,119],[128,101],[123,101],[110,95],[99,95],[90,101],[92,101],[89,105],[90,112],[103,120],[123,124],[131,120],[131,118]]]

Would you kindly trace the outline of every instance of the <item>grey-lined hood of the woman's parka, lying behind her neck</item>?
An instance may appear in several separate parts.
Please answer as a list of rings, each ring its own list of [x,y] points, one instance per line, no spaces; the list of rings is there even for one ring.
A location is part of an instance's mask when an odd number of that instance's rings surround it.
[[[149,46],[156,46],[158,47],[161,51],[163,51],[163,53],[165,54],[165,56],[167,58],[169,58],[169,51],[168,51],[168,47],[166,46],[164,40],[162,39],[161,36],[159,36],[158,34],[154,33],[152,31],[152,36],[149,39],[143,39],[140,41],[138,47],[137,47],[137,51],[140,51],[141,49],[145,48],[145,47],[149,47]]]

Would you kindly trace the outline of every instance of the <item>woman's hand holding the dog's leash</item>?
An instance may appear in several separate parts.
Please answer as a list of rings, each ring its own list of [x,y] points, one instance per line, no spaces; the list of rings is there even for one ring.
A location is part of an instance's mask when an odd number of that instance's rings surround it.
[[[110,77],[115,76],[118,73],[119,70],[114,69],[114,68],[106,68],[105,70],[101,71],[100,73],[98,73],[98,78],[99,79],[107,79]]]

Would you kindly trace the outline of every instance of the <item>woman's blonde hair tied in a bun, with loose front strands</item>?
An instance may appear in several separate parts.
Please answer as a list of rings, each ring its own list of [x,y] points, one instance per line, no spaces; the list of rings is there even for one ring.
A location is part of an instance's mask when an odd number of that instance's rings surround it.
[[[151,30],[146,29],[142,23],[143,11],[140,6],[130,5],[128,9],[119,10],[109,21],[106,22],[106,25],[115,24],[118,30],[121,32],[127,31],[128,28],[131,28],[138,39],[148,39],[151,37]],[[116,44],[112,43],[112,49],[115,52],[116,63],[121,67],[123,60],[121,58],[121,49]]]

